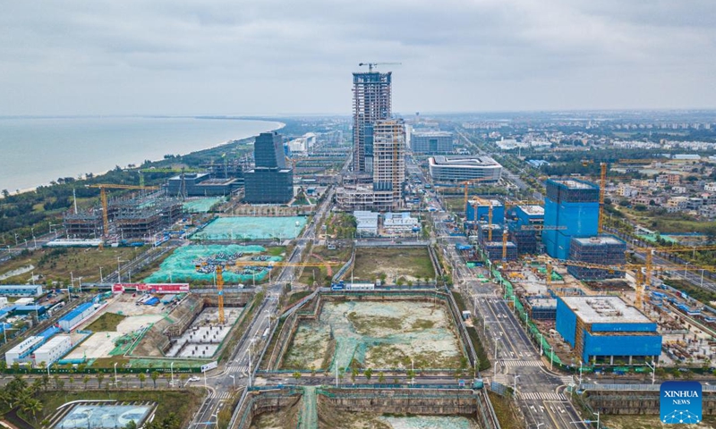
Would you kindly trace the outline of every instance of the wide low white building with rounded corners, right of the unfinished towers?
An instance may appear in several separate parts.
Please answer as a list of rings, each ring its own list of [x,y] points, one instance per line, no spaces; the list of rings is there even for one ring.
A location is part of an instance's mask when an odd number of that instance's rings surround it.
[[[436,182],[481,179],[481,183],[496,183],[502,175],[502,165],[490,156],[430,156],[428,163]]]

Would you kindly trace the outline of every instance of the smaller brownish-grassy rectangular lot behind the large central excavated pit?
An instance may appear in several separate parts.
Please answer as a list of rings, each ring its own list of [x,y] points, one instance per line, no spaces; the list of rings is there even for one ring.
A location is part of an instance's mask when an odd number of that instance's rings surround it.
[[[350,274],[348,274],[350,275]],[[354,280],[373,282],[385,278],[388,284],[425,282],[435,278],[428,248],[357,248]]]

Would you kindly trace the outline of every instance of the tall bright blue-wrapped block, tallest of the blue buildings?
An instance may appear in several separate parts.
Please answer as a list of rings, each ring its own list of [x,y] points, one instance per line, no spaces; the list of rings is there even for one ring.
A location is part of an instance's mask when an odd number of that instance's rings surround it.
[[[549,180],[544,198],[544,225],[563,227],[542,232],[547,254],[567,259],[574,237],[597,235],[599,186],[589,181]]]

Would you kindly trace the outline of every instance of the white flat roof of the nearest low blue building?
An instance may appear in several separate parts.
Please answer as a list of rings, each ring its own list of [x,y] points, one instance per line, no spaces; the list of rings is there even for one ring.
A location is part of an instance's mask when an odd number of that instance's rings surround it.
[[[651,324],[652,321],[619,297],[561,297],[585,324]]]

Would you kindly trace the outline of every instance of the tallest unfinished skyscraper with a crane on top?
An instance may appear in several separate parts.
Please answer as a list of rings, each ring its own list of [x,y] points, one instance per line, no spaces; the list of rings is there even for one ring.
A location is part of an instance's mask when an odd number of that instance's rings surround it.
[[[391,114],[391,73],[353,73],[354,171],[372,172],[372,125]]]

